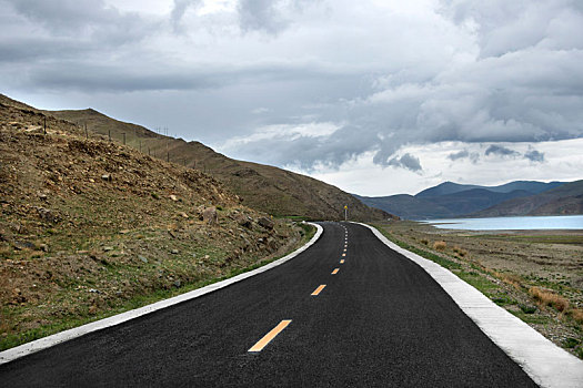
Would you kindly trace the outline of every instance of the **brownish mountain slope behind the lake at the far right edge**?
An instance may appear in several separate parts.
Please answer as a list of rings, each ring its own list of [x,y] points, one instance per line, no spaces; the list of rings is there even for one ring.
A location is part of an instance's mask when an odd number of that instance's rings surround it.
[[[513,198],[473,213],[475,217],[583,214],[583,180],[543,193]]]

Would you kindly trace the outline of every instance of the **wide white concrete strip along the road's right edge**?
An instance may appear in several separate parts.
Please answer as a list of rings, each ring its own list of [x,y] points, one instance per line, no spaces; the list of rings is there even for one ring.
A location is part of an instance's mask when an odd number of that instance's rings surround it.
[[[391,249],[416,263],[460,308],[541,387],[583,387],[583,361],[494,304],[478,289],[439,264],[401,248],[376,228],[370,228]]]

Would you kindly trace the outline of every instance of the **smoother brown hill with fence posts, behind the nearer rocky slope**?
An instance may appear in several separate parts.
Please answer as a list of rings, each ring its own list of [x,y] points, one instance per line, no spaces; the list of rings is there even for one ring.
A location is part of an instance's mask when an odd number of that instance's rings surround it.
[[[343,219],[344,205],[355,221],[391,217],[371,208],[335,186],[273,166],[237,161],[199,142],[157,134],[143,126],[123,123],[94,110],[51,111],[56,118],[87,124],[90,133],[109,136],[145,154],[207,172],[239,195],[252,208],[275,216]]]

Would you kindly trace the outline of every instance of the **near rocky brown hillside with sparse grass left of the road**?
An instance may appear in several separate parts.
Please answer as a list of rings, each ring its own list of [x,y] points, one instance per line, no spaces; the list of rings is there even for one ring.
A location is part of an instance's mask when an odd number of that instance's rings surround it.
[[[281,256],[305,232],[208,174],[0,99],[0,349]]]

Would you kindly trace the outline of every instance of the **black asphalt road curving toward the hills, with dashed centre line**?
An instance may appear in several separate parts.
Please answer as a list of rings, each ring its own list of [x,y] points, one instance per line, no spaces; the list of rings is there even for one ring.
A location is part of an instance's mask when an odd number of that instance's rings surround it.
[[[292,261],[2,365],[0,386],[535,386],[423,269],[363,226],[321,225]]]

